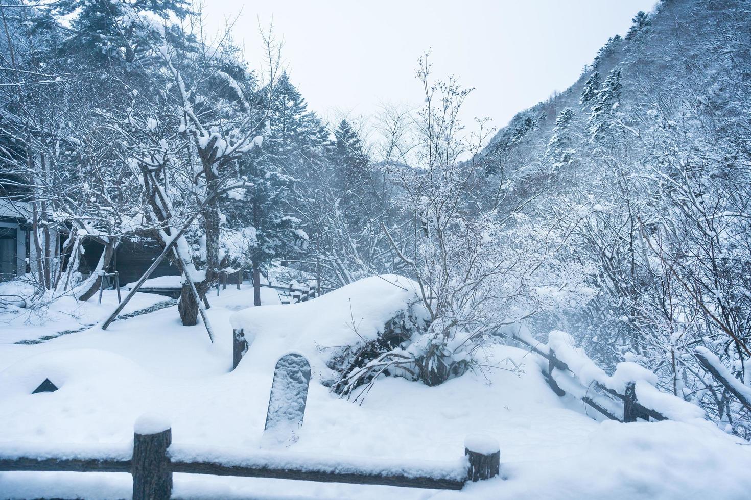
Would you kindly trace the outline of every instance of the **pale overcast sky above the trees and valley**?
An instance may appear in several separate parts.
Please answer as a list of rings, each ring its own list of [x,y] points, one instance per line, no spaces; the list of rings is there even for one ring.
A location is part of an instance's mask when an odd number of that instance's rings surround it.
[[[381,103],[421,103],[418,57],[436,76],[476,87],[464,118],[498,127],[571,85],[608,37],[655,0],[207,0],[214,28],[238,12],[234,37],[261,58],[258,22],[273,19],[291,80],[324,118],[370,115]]]

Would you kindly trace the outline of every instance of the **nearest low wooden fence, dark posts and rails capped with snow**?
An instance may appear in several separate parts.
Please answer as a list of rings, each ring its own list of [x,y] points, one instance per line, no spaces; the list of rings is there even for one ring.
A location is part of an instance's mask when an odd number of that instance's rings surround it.
[[[164,428],[166,427],[166,428]],[[467,481],[490,479],[499,473],[500,453],[488,453],[487,441],[478,446],[465,445],[465,457],[456,464],[439,464],[434,470],[425,464],[416,466],[372,466],[363,461],[346,463],[346,461],[327,460],[322,463],[306,463],[294,460],[294,456],[277,455],[276,460],[264,463],[251,457],[240,460],[195,460],[195,451],[178,448],[173,453],[170,448],[172,430],[168,426],[151,429],[148,432],[137,431],[133,436],[133,452],[129,459],[113,458],[102,451],[99,457],[71,457],[76,454],[51,453],[38,454],[39,458],[23,457],[17,451],[3,453],[0,451],[0,472],[34,471],[34,472],[129,472],[133,476],[134,500],[166,500],[172,494],[172,475],[174,472],[188,474],[208,474],[222,476],[242,476],[248,478],[276,478],[297,481],[318,481],[350,484],[381,484],[396,487],[428,488],[432,490],[461,490]],[[468,441],[469,442],[469,441]],[[472,449],[471,449],[472,448]],[[97,454],[89,448],[89,453]],[[200,452],[199,452],[200,453]],[[180,457],[190,457],[189,460]],[[280,458],[282,459],[280,461]],[[284,457],[292,457],[289,460]],[[281,464],[281,465],[280,465]]]

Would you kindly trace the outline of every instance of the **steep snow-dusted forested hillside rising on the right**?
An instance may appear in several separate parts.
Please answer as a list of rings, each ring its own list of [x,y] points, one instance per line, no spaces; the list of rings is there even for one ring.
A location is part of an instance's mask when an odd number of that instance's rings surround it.
[[[692,353],[705,346],[751,377],[749,26],[743,1],[661,1],[481,155],[487,189],[565,226],[556,250],[592,271],[584,307],[536,322],[568,328],[605,366],[655,370],[743,436],[749,409]]]

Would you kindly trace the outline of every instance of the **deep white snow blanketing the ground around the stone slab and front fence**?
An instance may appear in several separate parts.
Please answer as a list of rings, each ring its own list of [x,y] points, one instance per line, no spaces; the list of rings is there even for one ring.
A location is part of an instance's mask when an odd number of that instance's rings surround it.
[[[115,322],[107,331],[92,328],[33,346],[2,344],[0,449],[18,443],[128,448],[134,422],[148,412],[169,419],[175,445],[258,453],[276,359],[291,350],[315,357],[319,331],[319,340],[345,336],[351,329],[342,320],[352,318],[365,331],[367,321],[397,307],[403,292],[388,292],[388,283],[375,280],[236,316],[255,317],[264,331],[232,373],[230,316],[252,301],[247,286],[210,297],[214,344],[202,325],[179,325],[176,307]],[[298,330],[289,331],[294,325]],[[751,447],[712,424],[599,422],[584,415],[581,404],[550,391],[533,355],[495,346],[487,356],[497,369],[436,388],[384,379],[362,406],[330,394],[314,369],[300,439],[279,453],[451,463],[463,454],[465,436],[482,432],[500,444],[503,478],[440,492],[174,475],[173,493],[185,499],[748,498]],[[506,360],[523,372],[511,371]],[[59,391],[29,394],[46,377],[59,382]],[[0,473],[2,498],[130,493],[125,474]]]

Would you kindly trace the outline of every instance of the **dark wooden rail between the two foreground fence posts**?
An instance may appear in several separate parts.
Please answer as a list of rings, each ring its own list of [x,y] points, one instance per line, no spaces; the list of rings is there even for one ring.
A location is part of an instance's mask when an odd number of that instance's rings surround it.
[[[225,466],[213,462],[173,462],[172,472],[209,474],[215,476],[240,476],[243,478],[291,479],[319,483],[380,484],[430,490],[461,490],[464,481],[445,478],[413,477],[412,475],[379,475],[339,473],[327,470],[274,469],[270,467]]]

